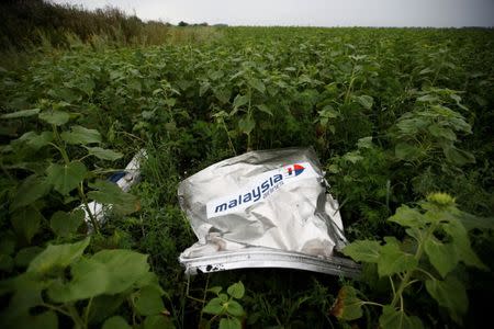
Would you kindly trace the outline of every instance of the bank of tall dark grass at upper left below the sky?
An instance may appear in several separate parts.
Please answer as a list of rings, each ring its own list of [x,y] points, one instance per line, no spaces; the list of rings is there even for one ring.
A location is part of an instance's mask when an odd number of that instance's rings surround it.
[[[207,26],[207,23],[180,26]],[[175,29],[169,23],[143,22],[113,7],[88,11],[77,5],[43,0],[0,3],[0,50],[26,50],[37,46],[68,47],[82,42],[98,46],[158,45],[165,42],[201,41],[198,29]],[[202,30],[202,29],[201,29]]]

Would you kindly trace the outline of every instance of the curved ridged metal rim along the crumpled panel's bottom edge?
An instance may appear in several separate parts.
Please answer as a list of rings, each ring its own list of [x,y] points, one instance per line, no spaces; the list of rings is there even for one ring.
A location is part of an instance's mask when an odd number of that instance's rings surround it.
[[[214,256],[179,258],[187,275],[236,269],[284,268],[357,279],[360,265],[340,257],[318,258],[299,252],[250,247],[237,251],[221,251]]]

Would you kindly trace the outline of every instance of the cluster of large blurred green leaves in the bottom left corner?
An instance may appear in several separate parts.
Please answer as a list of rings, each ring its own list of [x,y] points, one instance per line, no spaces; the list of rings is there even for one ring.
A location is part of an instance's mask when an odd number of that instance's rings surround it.
[[[116,300],[121,296],[135,298],[135,313],[144,317],[166,311],[162,291],[149,272],[147,256],[117,249],[83,256],[89,242],[86,238],[50,245],[30,262],[25,273],[0,282],[0,294],[12,294],[8,308],[0,314],[2,324],[7,328],[30,324],[57,328],[58,316],[68,316],[75,326],[87,328],[96,320],[89,317],[91,306],[98,306],[96,300],[104,296]],[[70,276],[66,269],[70,269]],[[76,302],[86,305],[80,313],[75,308]],[[30,310],[35,307],[46,311],[33,317]],[[143,322],[146,326],[146,320]],[[103,324],[104,328],[115,326],[130,327],[121,316],[110,317]]]

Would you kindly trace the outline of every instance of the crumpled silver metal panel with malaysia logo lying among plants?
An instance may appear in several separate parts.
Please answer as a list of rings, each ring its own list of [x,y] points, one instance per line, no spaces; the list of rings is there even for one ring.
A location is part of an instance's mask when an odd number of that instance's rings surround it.
[[[358,266],[333,254],[346,239],[326,188],[312,148],[251,151],[207,167],[178,189],[199,239],[180,262],[191,274],[273,266],[355,276]]]

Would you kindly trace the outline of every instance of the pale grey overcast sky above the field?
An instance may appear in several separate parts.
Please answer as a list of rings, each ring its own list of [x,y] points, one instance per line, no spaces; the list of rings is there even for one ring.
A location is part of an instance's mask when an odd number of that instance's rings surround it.
[[[494,26],[494,0],[54,0],[177,24]]]

